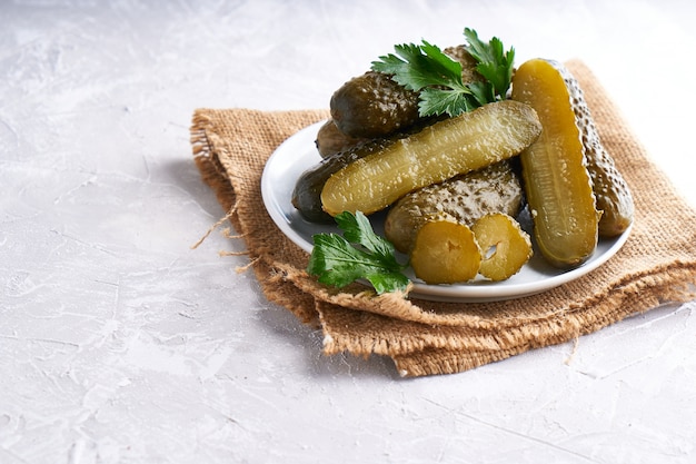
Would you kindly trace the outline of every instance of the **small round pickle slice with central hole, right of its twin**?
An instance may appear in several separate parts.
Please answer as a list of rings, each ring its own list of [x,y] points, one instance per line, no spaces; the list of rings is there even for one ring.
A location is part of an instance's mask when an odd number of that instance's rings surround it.
[[[481,249],[478,273],[494,282],[510,278],[531,258],[531,239],[513,217],[493,213],[471,226]]]

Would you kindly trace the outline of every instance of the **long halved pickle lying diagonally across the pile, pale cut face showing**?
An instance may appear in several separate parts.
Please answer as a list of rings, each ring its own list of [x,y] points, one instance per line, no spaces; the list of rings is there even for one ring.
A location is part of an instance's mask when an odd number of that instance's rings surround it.
[[[509,159],[540,132],[535,110],[513,100],[438,121],[330,176],[321,191],[324,210],[379,211],[418,188]]]

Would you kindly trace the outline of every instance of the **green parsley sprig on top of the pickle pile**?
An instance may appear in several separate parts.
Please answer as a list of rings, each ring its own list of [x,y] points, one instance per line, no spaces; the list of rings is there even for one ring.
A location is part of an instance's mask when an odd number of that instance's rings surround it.
[[[379,57],[378,61],[372,61],[371,69],[391,75],[399,85],[419,92],[420,116],[457,116],[505,99],[513,78],[515,49],[505,51],[496,37],[483,42],[469,28],[464,30],[464,36],[468,43],[466,49],[477,61],[476,70],[484,77],[483,81],[464,82],[461,63],[426,40],[421,45],[395,46],[396,55]]]

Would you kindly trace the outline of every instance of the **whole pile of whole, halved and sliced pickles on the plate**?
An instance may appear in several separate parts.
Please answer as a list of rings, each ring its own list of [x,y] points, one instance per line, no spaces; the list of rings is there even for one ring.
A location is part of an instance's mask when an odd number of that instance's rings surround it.
[[[444,53],[465,86],[485,80],[471,45]],[[396,80],[371,70],[334,93],[317,135],[324,160],[294,191],[307,220],[386,209],[386,238],[427,284],[518,273],[533,255],[516,220],[525,208],[538,250],[563,269],[630,225],[628,186],[560,63],[526,61],[510,91],[454,116],[424,115],[421,91]]]

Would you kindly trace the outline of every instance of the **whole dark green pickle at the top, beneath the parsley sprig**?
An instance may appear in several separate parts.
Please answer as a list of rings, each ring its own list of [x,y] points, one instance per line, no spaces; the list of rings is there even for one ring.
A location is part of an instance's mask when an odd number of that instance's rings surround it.
[[[481,79],[476,72],[476,60],[464,46],[443,52],[461,63],[464,83]],[[368,71],[337,89],[329,107],[340,132],[354,138],[377,138],[407,130],[422,119],[418,98],[418,92],[400,86],[390,76]]]

